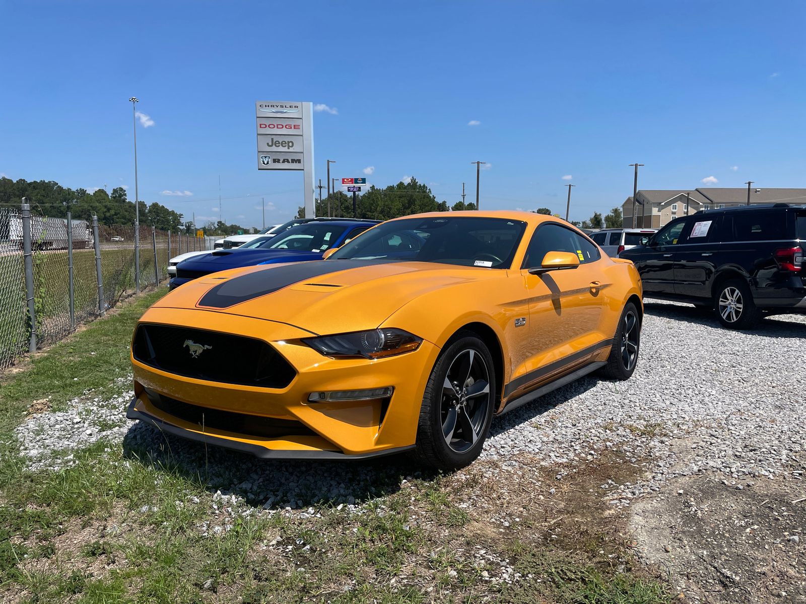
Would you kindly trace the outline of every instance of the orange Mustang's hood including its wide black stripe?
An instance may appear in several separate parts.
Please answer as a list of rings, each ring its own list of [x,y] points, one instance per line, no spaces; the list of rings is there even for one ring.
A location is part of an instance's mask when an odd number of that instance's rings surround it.
[[[278,321],[310,333],[374,329],[418,296],[498,271],[383,260],[318,260],[220,272],[186,283],[156,304]]]

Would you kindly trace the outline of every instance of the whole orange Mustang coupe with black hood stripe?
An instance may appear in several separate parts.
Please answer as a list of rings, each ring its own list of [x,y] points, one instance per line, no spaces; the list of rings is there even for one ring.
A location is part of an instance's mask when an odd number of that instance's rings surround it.
[[[494,414],[593,370],[628,379],[641,298],[632,263],[553,217],[397,218],[168,293],[132,340],[128,417],[257,457],[457,468]]]

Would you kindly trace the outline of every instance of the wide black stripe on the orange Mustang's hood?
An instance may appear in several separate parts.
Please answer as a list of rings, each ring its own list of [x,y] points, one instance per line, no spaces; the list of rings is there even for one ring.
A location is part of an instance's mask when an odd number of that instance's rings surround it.
[[[265,271],[247,273],[219,283],[202,296],[198,305],[207,308],[229,308],[235,304],[287,288],[289,285],[300,283],[305,279],[390,262],[394,262],[394,260],[313,260],[267,268]]]

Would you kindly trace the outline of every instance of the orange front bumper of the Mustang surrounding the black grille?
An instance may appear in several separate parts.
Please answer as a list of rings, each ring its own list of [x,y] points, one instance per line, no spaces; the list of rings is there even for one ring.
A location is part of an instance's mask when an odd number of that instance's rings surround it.
[[[300,341],[311,335],[302,329],[224,312],[152,308],[142,321],[260,338],[272,345],[297,375],[285,388],[208,382],[169,374],[132,357],[135,398],[127,413],[130,419],[262,458],[374,457],[409,449],[416,441],[423,392],[439,352],[428,341],[411,353],[370,361],[324,357]],[[233,350],[233,354],[238,351]],[[394,387],[388,399],[308,401],[312,392],[388,386]],[[157,402],[164,397],[210,410],[210,415],[230,414],[238,421],[202,426],[189,416],[172,415],[169,407],[157,406],[149,399],[149,391],[160,397]],[[260,430],[250,430],[252,425],[272,420],[296,424],[301,430],[280,436],[261,436]]]

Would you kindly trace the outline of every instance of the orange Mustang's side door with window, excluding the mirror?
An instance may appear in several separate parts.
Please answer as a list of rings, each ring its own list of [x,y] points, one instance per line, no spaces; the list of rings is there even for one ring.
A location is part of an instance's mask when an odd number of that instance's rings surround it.
[[[580,266],[532,275],[529,269],[540,267],[550,251],[575,254]],[[609,283],[602,282],[601,259],[599,248],[567,226],[544,222],[534,231],[521,266],[529,296],[530,370],[569,360],[605,339],[600,322]]]

